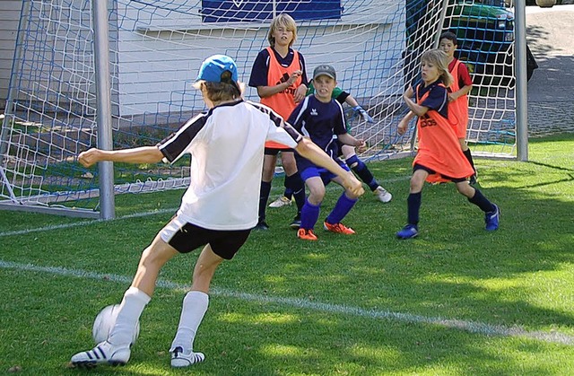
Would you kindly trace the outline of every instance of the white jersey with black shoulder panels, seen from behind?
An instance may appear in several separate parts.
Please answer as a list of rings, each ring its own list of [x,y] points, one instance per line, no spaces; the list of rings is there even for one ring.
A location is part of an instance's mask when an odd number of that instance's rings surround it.
[[[265,141],[294,148],[301,137],[272,109],[251,101],[224,103],[188,120],[158,144],[166,162],[192,155],[178,217],[210,230],[255,227]]]

